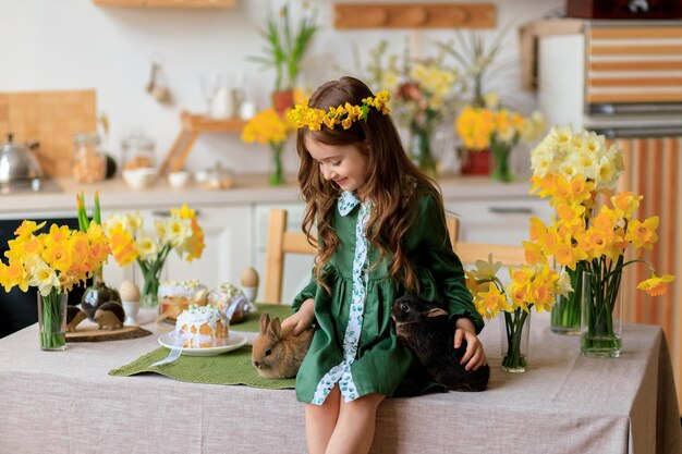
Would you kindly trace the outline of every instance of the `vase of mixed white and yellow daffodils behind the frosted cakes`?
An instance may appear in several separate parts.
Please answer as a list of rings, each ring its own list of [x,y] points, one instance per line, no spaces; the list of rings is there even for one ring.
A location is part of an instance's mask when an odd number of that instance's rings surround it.
[[[139,213],[114,213],[106,222],[114,259],[120,266],[136,262],[143,275],[141,306],[156,307],[161,271],[171,253],[187,261],[202,257],[204,231],[186,204],[155,221],[156,236],[144,228]]]

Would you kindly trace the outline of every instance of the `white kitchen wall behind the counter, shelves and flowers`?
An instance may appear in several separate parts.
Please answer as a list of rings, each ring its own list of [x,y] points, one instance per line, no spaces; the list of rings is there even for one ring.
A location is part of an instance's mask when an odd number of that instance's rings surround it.
[[[360,75],[353,46],[366,62],[363,50],[381,38],[388,38],[391,50],[399,52],[409,36],[417,51],[430,53],[435,49],[431,40],[453,37],[450,30],[337,30],[333,2],[310,3],[318,8],[322,24],[302,79],[313,89],[344,73]],[[512,27],[501,60],[513,62],[517,59],[516,27],[564,2],[495,3],[498,26]],[[156,140],[161,160],[179,132],[180,111],[206,109],[199,89],[202,73],[230,72],[244,77],[245,90],[259,107],[267,102],[273,73],[248,61],[247,56],[257,54],[263,46],[258,28],[266,9],[280,4],[281,0],[238,0],[236,8],[228,10],[147,10],[102,8],[89,0],[0,0],[0,91],[94,88],[98,111],[110,119],[111,154],[120,157],[121,138],[132,128],[143,127]],[[155,59],[162,64],[172,90],[172,106],[158,103],[145,91]],[[520,109],[536,107],[534,96],[520,88],[517,64],[504,71],[497,84],[500,94]],[[215,134],[199,138],[187,167],[198,170],[218,160],[246,173],[265,172],[269,165],[264,147],[242,144],[236,134]],[[288,170],[294,171],[296,163],[291,150]]]

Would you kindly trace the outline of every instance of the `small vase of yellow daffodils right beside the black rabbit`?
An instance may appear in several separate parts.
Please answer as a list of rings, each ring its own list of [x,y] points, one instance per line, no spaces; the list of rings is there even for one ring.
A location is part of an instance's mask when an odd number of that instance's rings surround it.
[[[474,305],[486,319],[500,315],[502,347],[501,368],[506,372],[525,372],[528,368],[528,333],[531,309],[551,310],[555,295],[571,291],[565,272],[557,272],[549,262],[510,267],[511,282],[507,285],[497,275],[501,263],[477,260],[466,271],[466,286]]]

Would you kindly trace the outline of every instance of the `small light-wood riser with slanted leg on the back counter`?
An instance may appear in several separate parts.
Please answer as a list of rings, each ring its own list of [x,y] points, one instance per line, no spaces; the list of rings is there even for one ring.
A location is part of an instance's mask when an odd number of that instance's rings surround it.
[[[180,114],[182,123],[182,130],[163,163],[161,164],[160,172],[166,174],[169,172],[175,172],[182,169],[196,142],[197,137],[202,133],[239,133],[242,131],[246,122],[241,119],[211,119],[204,114],[190,113],[183,111]]]

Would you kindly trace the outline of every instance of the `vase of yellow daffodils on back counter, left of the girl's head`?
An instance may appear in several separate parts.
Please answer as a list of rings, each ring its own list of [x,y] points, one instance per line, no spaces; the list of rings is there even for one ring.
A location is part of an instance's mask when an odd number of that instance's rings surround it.
[[[272,108],[258,112],[242,130],[242,140],[245,143],[257,142],[269,145],[273,163],[273,169],[268,179],[271,186],[287,183],[282,167],[282,151],[289,134],[294,130],[295,125],[288,119],[287,112],[279,114]]]

